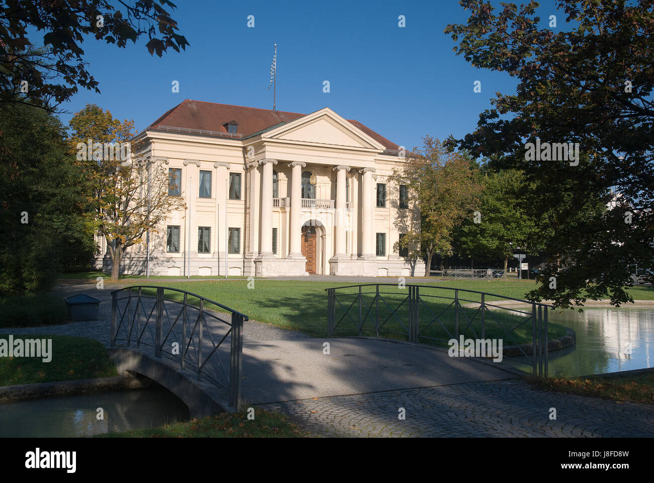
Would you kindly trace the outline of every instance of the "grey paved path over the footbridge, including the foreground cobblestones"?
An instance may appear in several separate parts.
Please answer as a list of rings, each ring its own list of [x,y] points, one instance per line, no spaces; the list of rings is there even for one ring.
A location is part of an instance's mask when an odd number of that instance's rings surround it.
[[[108,345],[111,290],[66,283],[57,291],[101,298],[103,320],[0,332],[84,336]],[[541,391],[495,365],[442,350],[311,338],[256,321],[245,323],[243,339],[247,403],[286,412],[315,435],[654,437],[652,405]],[[549,419],[550,408],[557,420]]]

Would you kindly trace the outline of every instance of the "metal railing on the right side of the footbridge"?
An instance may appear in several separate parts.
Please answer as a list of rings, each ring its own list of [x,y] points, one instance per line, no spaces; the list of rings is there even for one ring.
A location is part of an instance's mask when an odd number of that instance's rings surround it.
[[[328,336],[406,338],[420,343],[460,340],[460,336],[512,342],[504,357],[524,356],[534,376],[547,378],[547,304],[485,292],[433,285],[366,283],[326,289]],[[472,300],[472,298],[477,300]],[[526,310],[493,303],[488,297],[527,304]],[[517,315],[517,317],[516,317]],[[513,327],[509,327],[513,326]],[[530,330],[529,330],[530,327]],[[519,342],[518,332],[523,332]],[[524,342],[531,332],[529,342]],[[383,335],[383,336],[384,336]]]

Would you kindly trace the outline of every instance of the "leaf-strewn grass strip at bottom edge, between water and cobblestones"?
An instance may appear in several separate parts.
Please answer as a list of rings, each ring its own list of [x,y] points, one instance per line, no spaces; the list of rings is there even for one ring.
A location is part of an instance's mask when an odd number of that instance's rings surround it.
[[[222,413],[201,420],[98,435],[105,438],[300,438],[309,433],[278,412],[256,409],[254,420],[247,412]]]

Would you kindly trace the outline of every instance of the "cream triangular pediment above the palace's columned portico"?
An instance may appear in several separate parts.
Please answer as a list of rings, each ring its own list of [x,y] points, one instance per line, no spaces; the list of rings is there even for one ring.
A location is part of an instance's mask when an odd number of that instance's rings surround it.
[[[328,108],[279,126],[268,132],[266,137],[311,144],[384,149],[375,139]]]

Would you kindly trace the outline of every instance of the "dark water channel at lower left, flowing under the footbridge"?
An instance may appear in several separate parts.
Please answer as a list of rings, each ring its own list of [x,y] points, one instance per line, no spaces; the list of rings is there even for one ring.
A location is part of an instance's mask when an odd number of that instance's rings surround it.
[[[97,408],[104,419],[97,419]],[[0,437],[84,437],[188,420],[188,408],[162,388],[28,399],[0,404]]]

